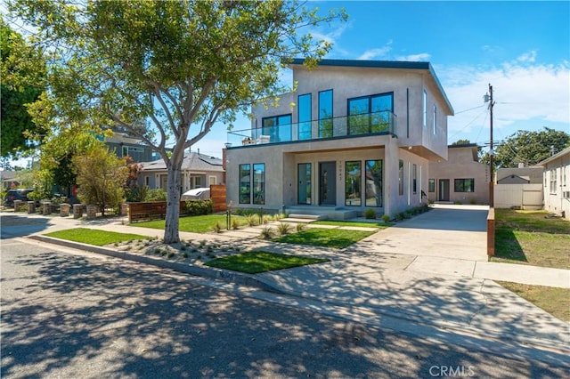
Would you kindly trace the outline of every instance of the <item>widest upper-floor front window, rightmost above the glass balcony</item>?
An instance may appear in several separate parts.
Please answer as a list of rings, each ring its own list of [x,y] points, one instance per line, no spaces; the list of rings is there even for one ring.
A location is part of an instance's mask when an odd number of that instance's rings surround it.
[[[389,131],[394,111],[394,93],[380,93],[348,99],[348,134]]]

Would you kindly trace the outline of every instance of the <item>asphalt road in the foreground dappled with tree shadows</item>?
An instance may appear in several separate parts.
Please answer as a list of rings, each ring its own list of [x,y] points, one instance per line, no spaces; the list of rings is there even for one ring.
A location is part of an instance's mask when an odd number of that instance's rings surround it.
[[[203,286],[172,271],[5,237],[6,379],[570,374],[264,302],[243,287]]]

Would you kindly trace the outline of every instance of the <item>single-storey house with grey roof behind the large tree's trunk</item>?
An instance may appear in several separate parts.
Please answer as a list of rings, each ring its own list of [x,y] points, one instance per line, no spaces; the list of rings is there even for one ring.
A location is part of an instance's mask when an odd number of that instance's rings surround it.
[[[164,160],[144,162],[141,165],[142,169],[138,175],[140,186],[167,190],[167,165]],[[181,192],[209,187],[210,184],[224,184],[222,159],[200,154],[199,151],[184,154]]]

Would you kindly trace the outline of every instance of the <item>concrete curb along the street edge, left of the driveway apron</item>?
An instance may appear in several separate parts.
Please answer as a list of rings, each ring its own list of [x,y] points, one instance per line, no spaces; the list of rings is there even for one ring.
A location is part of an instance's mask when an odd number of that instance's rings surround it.
[[[163,259],[152,258],[150,256],[139,255],[139,254],[129,254],[126,252],[121,252],[113,249],[109,249],[106,247],[101,246],[93,246],[82,244],[80,242],[73,242],[68,241],[65,239],[60,238],[53,238],[53,237],[46,237],[40,235],[32,235],[28,236],[30,239],[34,239],[37,241],[59,245],[59,246],[66,246],[70,248],[75,248],[79,250],[88,251],[91,253],[102,254],[107,256],[112,256],[115,258],[125,259],[127,261],[133,261],[143,264],[148,264],[156,267],[160,267],[162,269],[168,270],[175,270],[180,271],[186,274],[194,275],[197,277],[203,278],[213,278],[224,280],[225,282],[234,283],[241,286],[252,286],[259,288],[264,291],[273,292],[275,294],[284,294],[283,291],[280,289],[271,286],[261,280],[258,280],[252,275],[243,274],[240,272],[230,271],[230,270],[222,270],[222,269],[215,269],[210,267],[199,267],[191,264],[184,264],[180,262],[171,262],[166,261]]]

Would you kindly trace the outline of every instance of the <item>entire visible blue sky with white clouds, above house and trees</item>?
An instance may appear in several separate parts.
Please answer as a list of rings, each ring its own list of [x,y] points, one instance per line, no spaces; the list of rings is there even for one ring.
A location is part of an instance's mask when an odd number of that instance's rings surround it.
[[[344,23],[311,30],[332,42],[326,58],[429,61],[456,116],[448,142],[490,139],[483,101],[493,85],[493,140],[547,126],[570,133],[570,2],[310,2],[344,7]],[[288,78],[285,75],[285,78]],[[468,110],[470,109],[470,110]],[[247,119],[236,129],[248,128]],[[192,150],[217,157],[216,126]]]

